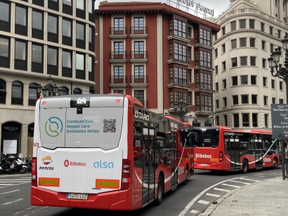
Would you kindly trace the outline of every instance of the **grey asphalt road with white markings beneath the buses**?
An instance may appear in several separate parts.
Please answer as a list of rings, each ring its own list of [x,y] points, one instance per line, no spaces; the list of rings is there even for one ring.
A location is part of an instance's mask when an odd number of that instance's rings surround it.
[[[166,194],[159,206],[148,205],[133,212],[107,212],[102,210],[82,210],[75,208],[43,207],[30,205],[31,174],[0,175],[0,216],[17,215],[98,215],[106,216],[195,216],[204,211],[218,197],[228,191],[247,184],[282,176],[282,168],[254,170],[242,173],[211,173],[195,170],[188,184],[179,186]]]

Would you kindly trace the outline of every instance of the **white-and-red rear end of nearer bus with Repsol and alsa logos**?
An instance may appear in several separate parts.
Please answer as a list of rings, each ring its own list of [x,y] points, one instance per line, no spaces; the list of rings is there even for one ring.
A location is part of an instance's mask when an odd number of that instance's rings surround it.
[[[63,95],[37,101],[32,205],[133,209],[129,98]]]

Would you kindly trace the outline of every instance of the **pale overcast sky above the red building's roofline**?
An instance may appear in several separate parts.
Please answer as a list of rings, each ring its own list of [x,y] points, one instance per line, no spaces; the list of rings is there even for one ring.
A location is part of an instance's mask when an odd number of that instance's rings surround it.
[[[99,3],[104,0],[96,0],[95,6],[96,9],[98,9]],[[107,0],[108,2],[127,2],[127,1],[133,1],[133,0]],[[138,1],[138,0],[134,0]],[[141,1],[141,0],[140,0]],[[161,0],[142,0],[142,1],[152,1],[152,2],[158,2]],[[176,2],[176,0],[171,0]],[[230,0],[193,0],[196,3],[200,3],[202,6],[207,7],[209,9],[214,9],[214,17],[216,18],[221,12],[223,12],[225,9],[229,8]],[[161,1],[162,3],[168,4],[168,1]]]

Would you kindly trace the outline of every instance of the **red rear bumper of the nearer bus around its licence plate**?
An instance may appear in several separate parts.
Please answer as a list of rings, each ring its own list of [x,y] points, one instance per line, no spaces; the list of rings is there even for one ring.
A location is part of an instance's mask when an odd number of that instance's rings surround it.
[[[93,208],[100,210],[133,210],[131,187],[124,191],[89,194],[87,200],[67,199],[67,193],[60,193],[31,187],[31,205],[67,208]],[[128,193],[128,194],[127,194]],[[129,200],[131,198],[131,200]]]

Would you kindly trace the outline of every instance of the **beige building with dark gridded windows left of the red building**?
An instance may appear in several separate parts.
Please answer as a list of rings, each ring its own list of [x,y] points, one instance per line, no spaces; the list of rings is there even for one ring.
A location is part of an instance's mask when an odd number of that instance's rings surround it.
[[[0,156],[32,154],[48,76],[62,95],[93,88],[94,28],[94,0],[0,0]]]

